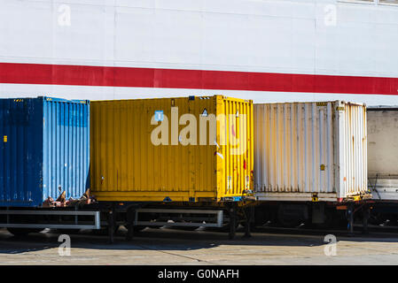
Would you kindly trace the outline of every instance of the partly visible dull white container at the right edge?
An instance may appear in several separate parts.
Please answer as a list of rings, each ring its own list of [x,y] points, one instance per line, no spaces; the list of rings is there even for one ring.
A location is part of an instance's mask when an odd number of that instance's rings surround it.
[[[368,176],[373,199],[398,201],[398,107],[367,111]]]

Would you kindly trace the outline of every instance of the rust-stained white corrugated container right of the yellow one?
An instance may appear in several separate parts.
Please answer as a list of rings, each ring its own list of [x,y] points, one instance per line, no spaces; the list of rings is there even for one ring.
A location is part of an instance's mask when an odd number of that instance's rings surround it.
[[[369,196],[363,104],[254,104],[254,121],[254,188],[261,200]]]

